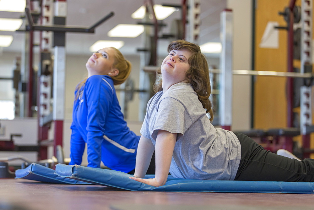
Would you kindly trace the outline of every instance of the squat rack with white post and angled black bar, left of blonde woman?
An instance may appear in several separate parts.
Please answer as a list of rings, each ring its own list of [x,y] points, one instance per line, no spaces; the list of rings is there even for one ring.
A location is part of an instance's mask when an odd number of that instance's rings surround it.
[[[48,0],[49,1],[49,0]],[[47,5],[44,5],[44,7]],[[52,5],[49,5],[52,6]],[[48,7],[49,7],[48,6]],[[30,8],[32,5],[30,4]],[[52,8],[49,8],[52,9]],[[84,28],[80,26],[66,26],[66,16],[67,16],[67,2],[66,0],[55,0],[55,14],[53,17],[54,24],[52,25],[37,25],[33,22],[33,17],[30,14],[29,8],[25,8],[25,15],[28,20],[28,24],[25,27],[25,31],[30,33],[30,58],[29,58],[29,84],[28,84],[28,116],[31,117],[31,101],[33,95],[33,31],[52,31],[53,34],[53,48],[54,48],[54,66],[53,66],[53,112],[49,116],[39,116],[40,118],[46,117],[46,119],[51,119],[46,122],[38,123],[38,144],[39,144],[39,154],[38,159],[47,159],[47,146],[51,145],[51,142],[47,140],[48,129],[45,127],[46,124],[54,122],[54,156],[56,156],[57,145],[63,145],[63,120],[64,120],[64,90],[65,90],[65,62],[66,62],[66,52],[65,52],[65,33],[66,32],[77,32],[77,33],[95,33],[96,27],[105,22],[107,19],[111,18],[114,13],[111,12],[94,25]],[[40,86],[38,86],[39,92]],[[40,108],[41,105],[37,104]],[[43,120],[43,119],[41,119]]]

